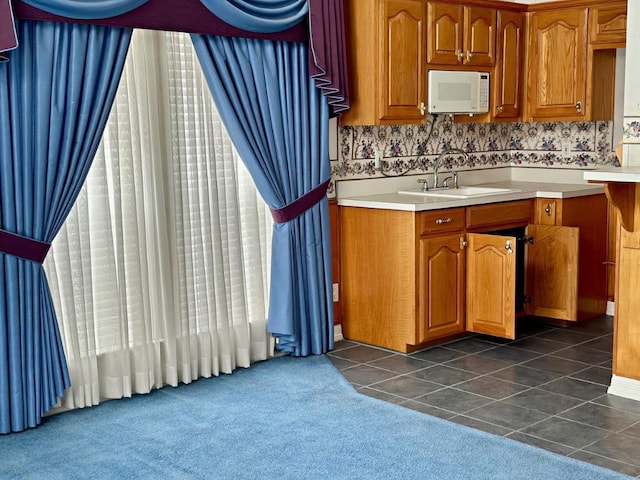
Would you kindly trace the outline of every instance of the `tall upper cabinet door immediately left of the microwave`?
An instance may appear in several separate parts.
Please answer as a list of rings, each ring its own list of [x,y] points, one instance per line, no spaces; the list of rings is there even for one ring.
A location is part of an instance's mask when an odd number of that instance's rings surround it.
[[[384,58],[378,96],[381,120],[423,120],[420,104],[426,101],[427,81],[424,15],[424,3],[420,0],[385,2],[381,28]]]

